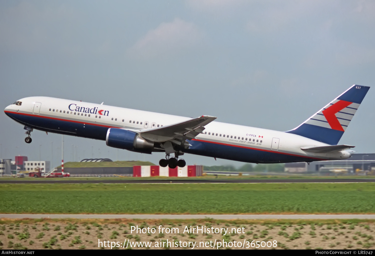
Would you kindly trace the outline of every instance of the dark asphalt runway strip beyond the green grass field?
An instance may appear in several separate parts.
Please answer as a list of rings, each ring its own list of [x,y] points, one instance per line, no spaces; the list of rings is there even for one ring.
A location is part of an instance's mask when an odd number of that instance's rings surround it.
[[[49,180],[48,178],[36,178],[35,180],[1,180],[0,184],[169,184],[169,183],[353,183],[353,182],[375,182],[375,179],[186,179],[186,180]]]

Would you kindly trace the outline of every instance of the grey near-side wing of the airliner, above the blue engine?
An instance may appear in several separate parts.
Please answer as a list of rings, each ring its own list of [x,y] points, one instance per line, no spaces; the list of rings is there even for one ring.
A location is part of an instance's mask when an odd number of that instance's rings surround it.
[[[138,133],[142,138],[150,141],[159,143],[171,141],[174,144],[180,145],[185,143],[185,146],[189,146],[189,143],[185,142],[185,140],[191,140],[195,138],[196,135],[203,133],[205,129],[204,126],[215,119],[216,117],[214,116],[200,116],[177,124],[144,129],[138,131]]]

